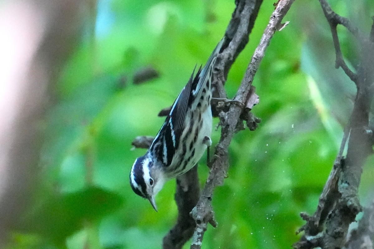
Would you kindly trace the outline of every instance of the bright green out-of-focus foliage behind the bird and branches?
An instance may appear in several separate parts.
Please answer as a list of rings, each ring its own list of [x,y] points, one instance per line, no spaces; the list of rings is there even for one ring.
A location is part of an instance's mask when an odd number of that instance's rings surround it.
[[[98,2],[100,16],[107,1]],[[160,248],[174,225],[174,181],[157,196],[158,213],[132,192],[129,170],[145,150],[131,150],[131,142],[157,133],[163,123],[157,113],[171,105],[194,65],[205,63],[234,1],[108,2],[111,18],[103,34],[97,31],[93,46],[82,36],[61,71],[58,100],[45,119],[40,186],[8,249]],[[339,13],[355,16],[350,6],[334,2]],[[229,97],[272,4],[264,1],[250,43],[230,71]],[[367,27],[373,13],[361,10]],[[318,1],[295,1],[285,21],[291,22],[276,33],[253,83],[260,96],[253,113],[262,122],[256,131],[234,136],[229,177],[213,197],[218,228],[208,228],[202,248],[290,248],[303,225],[299,213],[315,211],[337,154],[355,87],[334,68],[331,34]],[[352,37],[343,31],[341,38],[354,65]],[[132,84],[135,72],[147,65],[160,77]],[[214,143],[219,137],[218,129]],[[199,167],[202,185],[205,160]],[[373,169],[366,170],[371,174],[363,177],[364,196],[373,176]]]

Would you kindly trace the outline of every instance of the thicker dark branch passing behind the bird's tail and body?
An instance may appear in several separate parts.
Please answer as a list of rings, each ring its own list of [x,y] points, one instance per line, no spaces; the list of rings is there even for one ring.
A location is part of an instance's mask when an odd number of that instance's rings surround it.
[[[227,73],[236,57],[244,49],[246,43],[248,43],[248,34],[254,26],[254,21],[257,18],[261,3],[262,0],[236,1],[236,8],[227,27],[225,34],[226,40],[225,44],[223,44],[223,49],[227,49],[219,55],[215,63],[215,70],[212,77],[213,96],[226,97],[226,91],[223,85],[226,82]],[[217,103],[212,101],[212,106],[215,105],[217,105]],[[166,112],[168,114],[169,110]],[[215,108],[212,108],[212,112],[213,115],[218,115]],[[195,181],[197,179],[197,171],[196,169],[192,169],[192,171],[193,172],[188,172],[188,174],[186,173],[187,177],[181,176],[177,178],[175,200],[178,206],[178,220],[174,228],[172,228],[163,239],[164,249],[181,248],[184,243],[191,238],[196,227],[196,222],[191,218],[190,212],[197,203],[200,189],[199,183]],[[184,186],[188,186],[187,191],[181,186],[182,181],[180,181],[180,178],[183,178],[185,182]],[[197,199],[195,199],[196,196]]]

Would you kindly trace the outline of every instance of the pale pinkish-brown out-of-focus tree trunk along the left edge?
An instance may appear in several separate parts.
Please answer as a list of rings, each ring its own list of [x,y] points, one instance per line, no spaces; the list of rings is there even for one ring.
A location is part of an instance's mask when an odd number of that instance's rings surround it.
[[[50,85],[79,38],[91,2],[0,4],[0,246],[40,177],[41,120],[53,99]]]

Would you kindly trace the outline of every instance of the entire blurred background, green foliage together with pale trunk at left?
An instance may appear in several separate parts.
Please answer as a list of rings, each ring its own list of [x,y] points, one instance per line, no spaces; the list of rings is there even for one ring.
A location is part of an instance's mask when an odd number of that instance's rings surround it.
[[[230,70],[229,98],[273,2],[264,0]],[[369,35],[373,1],[329,2]],[[161,247],[177,217],[175,181],[154,212],[129,186],[130,168],[145,153],[131,142],[157,134],[164,121],[157,113],[206,62],[234,7],[233,0],[0,2],[1,248]],[[229,177],[213,197],[218,227],[208,228],[202,248],[290,248],[304,224],[299,213],[316,210],[337,155],[355,86],[334,68],[318,1],[295,1],[285,21],[253,83],[260,103],[252,112],[262,122],[230,144]],[[344,28],[338,32],[353,68],[360,51]],[[219,137],[218,128],[214,144]],[[363,205],[373,197],[372,165],[370,158],[362,175]]]

